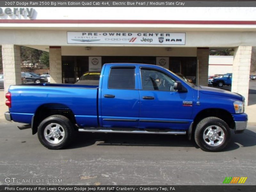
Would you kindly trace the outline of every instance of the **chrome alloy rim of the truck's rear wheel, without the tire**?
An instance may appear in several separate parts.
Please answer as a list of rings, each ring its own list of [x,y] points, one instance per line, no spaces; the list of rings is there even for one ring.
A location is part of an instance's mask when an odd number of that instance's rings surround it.
[[[60,124],[51,123],[44,128],[44,138],[49,143],[59,144],[65,137],[65,130]]]

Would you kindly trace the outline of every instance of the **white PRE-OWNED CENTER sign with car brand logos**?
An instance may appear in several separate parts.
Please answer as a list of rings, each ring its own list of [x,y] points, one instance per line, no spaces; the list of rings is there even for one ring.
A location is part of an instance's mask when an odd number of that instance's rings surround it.
[[[165,44],[185,45],[185,33],[68,32],[70,44]]]

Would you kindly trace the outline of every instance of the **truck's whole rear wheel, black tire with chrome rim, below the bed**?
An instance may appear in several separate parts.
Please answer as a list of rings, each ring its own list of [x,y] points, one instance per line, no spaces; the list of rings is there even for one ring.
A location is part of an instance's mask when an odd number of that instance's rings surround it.
[[[60,126],[58,126],[60,125]],[[46,135],[51,135],[51,131],[48,129],[55,128],[57,129],[56,135],[58,136],[57,141],[58,143],[53,143],[55,142],[54,137],[47,137]],[[57,128],[59,127],[59,128]],[[47,129],[48,128],[48,129]],[[64,136],[62,137],[61,133]],[[37,136],[41,144],[48,148],[48,149],[62,149],[68,146],[68,144],[72,141],[74,135],[74,125],[70,122],[70,120],[62,115],[53,115],[45,118],[38,126],[38,131],[37,131]]]

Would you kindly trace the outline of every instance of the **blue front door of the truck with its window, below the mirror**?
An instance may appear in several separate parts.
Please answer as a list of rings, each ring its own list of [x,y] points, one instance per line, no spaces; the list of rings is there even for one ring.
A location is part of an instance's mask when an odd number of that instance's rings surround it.
[[[139,128],[187,129],[192,122],[192,91],[177,92],[175,76],[156,69],[140,68],[140,76]]]

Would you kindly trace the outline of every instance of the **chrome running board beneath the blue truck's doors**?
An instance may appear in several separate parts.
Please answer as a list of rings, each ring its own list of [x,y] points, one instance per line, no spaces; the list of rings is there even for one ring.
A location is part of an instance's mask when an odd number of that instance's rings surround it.
[[[137,133],[137,134],[166,134],[166,135],[185,135],[186,131],[168,131],[168,132],[156,132],[156,131],[146,131],[146,130],[133,130],[133,131],[116,131],[111,129],[83,129],[79,128],[79,132],[92,132],[92,133]]]

